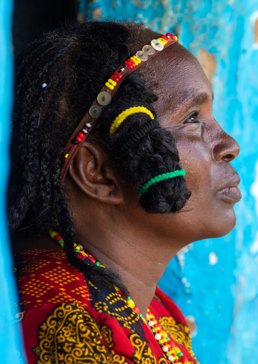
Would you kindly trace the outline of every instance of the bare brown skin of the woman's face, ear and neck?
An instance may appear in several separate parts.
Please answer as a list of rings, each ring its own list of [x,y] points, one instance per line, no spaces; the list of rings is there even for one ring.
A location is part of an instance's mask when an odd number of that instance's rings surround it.
[[[149,63],[143,72],[149,86],[155,82],[157,120],[175,136],[192,193],[183,211],[146,213],[131,184],[113,166],[107,147],[87,140],[64,184],[76,241],[121,276],[144,316],[178,250],[228,234],[235,226],[234,204],[241,198],[239,176],[229,163],[238,156],[239,145],[214,119],[212,89],[199,62],[174,44]],[[23,250],[43,246],[60,248],[42,236],[27,241]]]

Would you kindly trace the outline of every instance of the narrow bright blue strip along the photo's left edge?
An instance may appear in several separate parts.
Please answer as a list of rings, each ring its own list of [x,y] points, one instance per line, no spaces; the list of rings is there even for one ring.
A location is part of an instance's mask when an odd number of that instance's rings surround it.
[[[15,317],[17,297],[6,225],[6,187],[9,172],[13,60],[11,48],[12,1],[0,0],[0,362],[22,364],[24,359]]]

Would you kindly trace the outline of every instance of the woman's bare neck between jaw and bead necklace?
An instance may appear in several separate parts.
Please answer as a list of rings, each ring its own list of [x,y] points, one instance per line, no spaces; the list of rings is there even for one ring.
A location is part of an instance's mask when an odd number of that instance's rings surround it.
[[[87,227],[92,226],[94,224],[87,224]],[[178,244],[171,239],[162,241],[160,235],[151,234],[150,229],[143,226],[140,229],[135,227],[132,234],[128,221],[121,224],[122,229],[110,221],[108,226],[101,225],[98,229],[94,226],[94,231],[87,228],[86,235],[76,229],[75,239],[101,264],[119,274],[136,306],[146,317],[157,282],[179,250]]]

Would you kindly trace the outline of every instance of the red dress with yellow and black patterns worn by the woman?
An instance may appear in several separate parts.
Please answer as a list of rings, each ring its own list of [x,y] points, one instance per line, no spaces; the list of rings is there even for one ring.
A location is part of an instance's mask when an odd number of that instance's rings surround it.
[[[15,271],[28,364],[168,363],[150,327],[115,288],[92,284],[63,251],[17,253]],[[182,312],[158,287],[155,296],[151,313],[188,362],[198,364]]]

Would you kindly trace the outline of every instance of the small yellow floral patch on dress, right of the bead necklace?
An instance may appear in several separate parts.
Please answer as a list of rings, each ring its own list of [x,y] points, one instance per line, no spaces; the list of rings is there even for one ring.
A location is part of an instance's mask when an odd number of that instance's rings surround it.
[[[191,357],[196,360],[195,354],[193,354],[191,348],[191,335],[189,327],[183,323],[176,323],[174,318],[171,316],[159,317],[158,321],[164,330],[171,336],[171,338],[175,340],[177,344],[185,346]],[[199,364],[197,360],[196,362]]]

